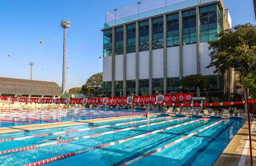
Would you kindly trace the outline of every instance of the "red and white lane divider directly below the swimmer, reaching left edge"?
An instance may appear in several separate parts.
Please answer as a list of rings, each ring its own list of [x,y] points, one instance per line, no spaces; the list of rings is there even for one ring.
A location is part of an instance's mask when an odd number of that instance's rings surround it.
[[[184,118],[188,118],[188,117],[184,117]],[[23,151],[23,150],[28,150],[28,149],[36,149],[36,148],[41,148],[41,147],[45,147],[45,146],[49,146],[49,145],[55,145],[55,144],[64,144],[64,143],[71,142],[73,140],[79,140],[79,139],[82,139],[82,138],[93,138],[93,137],[97,137],[97,136],[100,136],[100,135],[113,134],[113,133],[120,132],[120,131],[128,131],[128,130],[132,130],[132,129],[135,129],[135,128],[138,128],[138,127],[153,126],[153,125],[161,124],[161,123],[165,123],[165,122],[172,122],[172,121],[175,121],[175,120],[181,120],[181,119],[184,119],[184,118],[171,119],[171,120],[168,120],[168,121],[157,122],[157,123],[152,123],[152,124],[147,124],[147,125],[142,125],[142,126],[136,126],[136,127],[130,127],[130,128],[124,128],[124,129],[119,129],[119,130],[115,130],[115,131],[107,131],[107,132],[93,134],[93,135],[80,136],[80,137],[71,138],[71,139],[67,139],[67,140],[59,140],[59,141],[54,141],[54,142],[49,142],[49,143],[44,143],[44,144],[37,144],[37,145],[26,146],[26,147],[22,147],[22,148],[4,150],[4,151],[0,151],[0,154],[9,153],[9,152]]]

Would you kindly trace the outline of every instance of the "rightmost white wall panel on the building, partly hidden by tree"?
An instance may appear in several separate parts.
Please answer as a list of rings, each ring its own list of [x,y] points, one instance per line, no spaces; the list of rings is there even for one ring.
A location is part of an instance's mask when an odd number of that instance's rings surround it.
[[[212,75],[214,74],[213,71],[215,70],[215,67],[210,67],[209,69],[205,68],[211,62],[211,57],[209,54],[212,52],[212,50],[209,50],[208,47],[208,43],[200,43],[200,73],[202,75]]]

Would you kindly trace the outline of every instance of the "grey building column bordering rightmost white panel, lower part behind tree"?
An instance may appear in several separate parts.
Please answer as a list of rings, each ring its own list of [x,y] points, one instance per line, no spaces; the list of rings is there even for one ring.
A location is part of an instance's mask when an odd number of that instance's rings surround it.
[[[200,73],[200,22],[199,22],[199,7],[196,7],[196,74]],[[196,89],[196,96],[200,96],[200,89]]]

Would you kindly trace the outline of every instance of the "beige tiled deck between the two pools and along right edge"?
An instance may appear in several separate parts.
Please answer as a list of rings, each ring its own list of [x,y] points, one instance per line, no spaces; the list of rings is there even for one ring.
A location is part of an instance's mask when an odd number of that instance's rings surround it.
[[[156,115],[160,115],[160,114],[158,113]],[[102,119],[92,119],[92,120],[80,120],[80,121],[72,121],[72,122],[57,122],[57,123],[28,125],[28,126],[20,126],[20,127],[5,127],[5,128],[0,128],[0,134],[13,133],[13,132],[19,132],[19,131],[33,131],[33,130],[40,130],[40,129],[46,129],[46,128],[54,128],[54,127],[74,126],[74,125],[80,125],[83,123],[106,122],[106,121],[113,121],[113,120],[139,118],[139,117],[143,117],[143,115],[135,115],[132,117],[115,117],[115,118],[102,118]],[[256,122],[253,121],[253,119],[251,119],[251,127],[255,125],[255,123]],[[240,128],[240,130],[231,140],[230,144],[228,144],[228,146],[224,149],[224,151],[221,153],[221,155],[217,158],[216,162],[214,162],[212,166],[249,166],[250,165],[250,149],[248,146],[247,138],[248,138],[248,121],[246,121],[243,124],[243,127]],[[246,155],[246,151],[247,151],[247,155]],[[244,155],[245,161],[241,160],[242,154],[245,154]],[[256,126],[253,127],[252,129],[252,156],[253,156],[252,157],[253,165],[256,165]]]

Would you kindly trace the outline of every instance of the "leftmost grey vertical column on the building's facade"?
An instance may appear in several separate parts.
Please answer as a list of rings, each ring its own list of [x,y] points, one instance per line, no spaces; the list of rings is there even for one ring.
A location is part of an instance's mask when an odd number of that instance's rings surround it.
[[[112,27],[112,84],[111,96],[115,97],[115,28]]]

